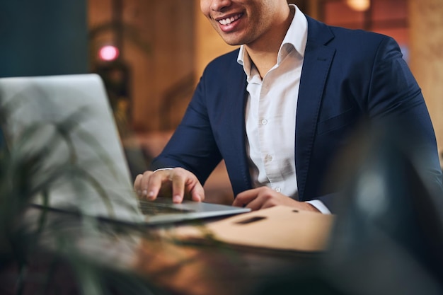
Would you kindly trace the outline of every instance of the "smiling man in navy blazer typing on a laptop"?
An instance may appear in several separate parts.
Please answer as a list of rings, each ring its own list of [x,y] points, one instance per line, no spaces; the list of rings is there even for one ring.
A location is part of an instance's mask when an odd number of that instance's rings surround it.
[[[202,12],[239,50],[215,59],[173,137],[138,175],[134,189],[155,199],[172,185],[202,201],[202,184],[224,159],[235,206],[277,204],[329,213],[322,183],[335,154],[363,119],[408,118],[441,176],[430,117],[397,43],[334,28],[286,0],[201,0]],[[166,169],[161,169],[166,168]],[[173,169],[171,169],[173,168]]]

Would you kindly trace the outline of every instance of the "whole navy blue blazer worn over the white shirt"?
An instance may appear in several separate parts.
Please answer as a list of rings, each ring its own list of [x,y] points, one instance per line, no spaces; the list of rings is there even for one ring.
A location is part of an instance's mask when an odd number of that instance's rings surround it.
[[[238,50],[208,64],[173,137],[151,169],[183,167],[205,183],[224,159],[234,195],[251,189],[246,154],[246,74]],[[323,182],[335,154],[362,118],[402,115],[424,134],[431,169],[441,175],[435,134],[418,84],[391,38],[336,28],[308,17],[297,105],[295,161],[299,200],[332,192]]]

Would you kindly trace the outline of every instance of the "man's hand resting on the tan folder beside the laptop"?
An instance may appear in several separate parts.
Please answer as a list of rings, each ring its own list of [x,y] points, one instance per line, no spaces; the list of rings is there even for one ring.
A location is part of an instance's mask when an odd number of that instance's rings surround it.
[[[298,202],[285,195],[272,190],[270,187],[258,187],[253,190],[246,190],[237,195],[234,199],[234,206],[246,207],[252,210],[259,210],[277,205],[294,207],[296,209],[319,212],[316,207],[306,202]]]

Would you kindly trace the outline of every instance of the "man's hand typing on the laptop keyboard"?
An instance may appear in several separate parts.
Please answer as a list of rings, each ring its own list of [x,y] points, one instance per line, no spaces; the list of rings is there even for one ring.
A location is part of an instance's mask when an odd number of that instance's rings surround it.
[[[158,196],[170,196],[174,203],[181,203],[185,195],[201,202],[205,199],[205,191],[197,177],[183,168],[146,171],[137,175],[134,190],[142,198],[154,200]]]

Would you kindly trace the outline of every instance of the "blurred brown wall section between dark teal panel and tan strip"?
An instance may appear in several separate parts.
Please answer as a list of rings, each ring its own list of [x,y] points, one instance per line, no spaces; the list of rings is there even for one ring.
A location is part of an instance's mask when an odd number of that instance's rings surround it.
[[[123,64],[120,96],[138,132],[173,129],[195,86],[195,8],[191,0],[88,0],[91,70]],[[98,52],[115,45],[117,61]],[[110,79],[121,79],[112,76]],[[118,83],[118,81],[115,81]]]

